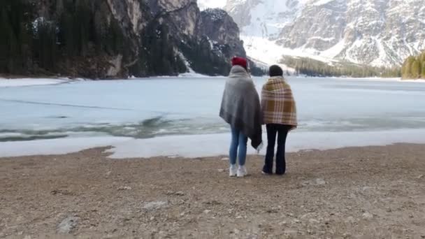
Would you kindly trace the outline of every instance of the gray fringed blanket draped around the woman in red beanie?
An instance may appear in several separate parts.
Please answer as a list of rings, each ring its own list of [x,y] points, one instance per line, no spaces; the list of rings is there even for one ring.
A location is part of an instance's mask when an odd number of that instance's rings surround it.
[[[251,145],[259,150],[261,138],[261,105],[250,75],[241,66],[233,66],[226,81],[220,109],[222,117],[233,128],[251,139]]]

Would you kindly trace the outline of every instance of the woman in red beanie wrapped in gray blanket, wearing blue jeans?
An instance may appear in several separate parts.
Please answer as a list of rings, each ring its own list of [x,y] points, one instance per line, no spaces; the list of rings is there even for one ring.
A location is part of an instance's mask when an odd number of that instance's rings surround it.
[[[245,177],[248,138],[252,141],[252,147],[257,150],[261,147],[261,106],[254,82],[247,71],[247,60],[234,57],[231,62],[220,117],[231,126],[229,175]],[[239,159],[238,168],[236,159]]]

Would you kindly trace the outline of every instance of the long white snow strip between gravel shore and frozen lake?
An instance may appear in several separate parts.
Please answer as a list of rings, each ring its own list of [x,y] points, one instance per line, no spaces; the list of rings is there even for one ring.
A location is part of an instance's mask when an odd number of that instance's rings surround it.
[[[302,132],[294,131],[288,140],[288,152],[299,150],[329,150],[341,147],[391,145],[394,143],[425,143],[425,129],[400,129],[365,132]],[[266,139],[266,135],[263,136]],[[229,133],[193,136],[166,136],[134,139],[120,137],[62,138],[26,142],[0,143],[0,157],[67,154],[93,147],[113,146],[106,150],[110,158],[149,158],[158,156],[212,157],[226,155]],[[167,145],[167,147],[164,147]],[[25,150],[22,150],[25,149]],[[254,149],[249,154],[257,154]],[[264,154],[264,150],[260,154]]]

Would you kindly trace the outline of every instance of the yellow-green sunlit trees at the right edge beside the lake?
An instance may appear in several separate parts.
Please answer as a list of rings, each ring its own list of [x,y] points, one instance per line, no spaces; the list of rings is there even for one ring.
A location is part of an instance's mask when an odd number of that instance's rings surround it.
[[[425,51],[417,57],[410,56],[405,59],[401,67],[403,79],[425,79]]]

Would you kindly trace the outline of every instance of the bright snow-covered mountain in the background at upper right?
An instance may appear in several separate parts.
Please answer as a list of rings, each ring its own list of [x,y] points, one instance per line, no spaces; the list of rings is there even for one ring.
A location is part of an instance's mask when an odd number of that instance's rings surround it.
[[[269,64],[289,55],[389,66],[425,49],[425,0],[228,0],[224,9],[248,55]]]

